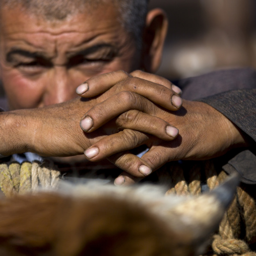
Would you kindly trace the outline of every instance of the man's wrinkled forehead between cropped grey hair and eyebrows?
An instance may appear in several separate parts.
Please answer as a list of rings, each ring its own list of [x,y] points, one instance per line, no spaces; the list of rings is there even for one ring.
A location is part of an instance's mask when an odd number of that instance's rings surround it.
[[[83,34],[86,37],[93,38],[101,33],[107,33],[114,30],[120,32],[122,26],[118,19],[118,12],[113,5],[99,5],[97,8],[85,9],[85,12],[77,13],[65,20],[46,20],[43,17],[36,17],[28,11],[16,9],[2,9],[0,34],[1,38],[19,38],[49,35],[61,37],[69,34],[72,40],[73,34]],[[35,40],[33,40],[35,42]]]

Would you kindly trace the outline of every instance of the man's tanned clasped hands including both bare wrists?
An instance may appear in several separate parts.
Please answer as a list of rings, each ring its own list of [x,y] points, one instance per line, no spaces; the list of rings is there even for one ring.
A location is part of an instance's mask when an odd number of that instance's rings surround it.
[[[182,102],[180,89],[156,75],[102,74],[77,92],[81,97],[60,104],[0,113],[0,153],[107,158],[123,170],[115,184],[129,184],[169,161],[209,159],[247,146],[228,118],[208,104]],[[141,145],[149,150],[139,158],[130,150]]]

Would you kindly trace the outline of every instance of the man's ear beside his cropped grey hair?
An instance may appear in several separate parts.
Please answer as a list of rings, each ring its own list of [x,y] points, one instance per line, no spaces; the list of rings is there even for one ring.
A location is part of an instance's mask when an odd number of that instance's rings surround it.
[[[155,73],[162,59],[163,45],[167,33],[168,21],[161,9],[149,11],[143,34],[143,68],[146,72]]]

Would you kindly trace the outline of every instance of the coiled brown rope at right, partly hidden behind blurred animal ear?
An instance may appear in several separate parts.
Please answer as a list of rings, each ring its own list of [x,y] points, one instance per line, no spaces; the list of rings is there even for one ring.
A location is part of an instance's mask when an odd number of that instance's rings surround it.
[[[184,190],[188,187],[189,194],[199,195],[202,176],[205,177],[210,190],[227,177],[223,170],[216,169],[214,160],[194,163],[189,161],[188,165],[187,169],[170,166],[173,185],[166,194],[184,195]],[[184,179],[184,173],[188,174],[187,181]],[[255,192],[246,188],[242,184],[237,188],[237,194],[219,225],[218,234],[213,236],[212,253],[208,251],[207,255],[256,256],[249,247],[249,244],[256,242]]]

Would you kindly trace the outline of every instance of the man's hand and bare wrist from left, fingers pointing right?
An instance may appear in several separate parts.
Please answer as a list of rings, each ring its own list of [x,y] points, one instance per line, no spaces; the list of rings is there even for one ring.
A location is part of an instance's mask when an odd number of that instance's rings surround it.
[[[142,72],[137,73],[142,76],[144,74]],[[167,103],[164,103],[164,106],[170,109],[176,110],[180,107],[172,105],[170,99],[176,97],[176,100],[178,101],[174,100],[174,102],[178,102],[179,105],[182,103],[181,99],[175,95],[171,89],[168,89],[172,88],[171,83],[167,80],[158,78],[157,76],[149,75],[152,81],[160,81],[165,85],[165,87],[157,85],[154,82],[150,82],[150,85],[147,87],[149,90],[144,90],[145,82],[149,83],[148,81],[132,78],[131,75],[127,75],[124,72],[115,72],[108,75],[118,79],[122,77],[123,83],[125,80],[124,85],[120,86],[119,83],[106,93],[88,101],[75,99],[69,102],[39,109],[15,110],[2,113],[1,129],[3,133],[1,137],[2,145],[0,147],[1,154],[10,155],[27,151],[36,152],[42,156],[72,156],[82,154],[83,151],[91,144],[103,138],[107,134],[116,133],[117,129],[120,128],[120,126],[114,127],[105,125],[104,129],[85,135],[79,126],[79,120],[84,112],[89,110],[92,106],[108,99],[109,95],[112,94],[117,94],[114,95],[115,97],[113,97],[108,104],[109,110],[112,109],[111,111],[113,112],[115,111],[116,101],[120,102],[121,97],[126,99],[125,104],[128,106],[128,109],[134,109],[136,107],[139,107],[140,109],[143,108],[143,106],[138,104],[138,101],[134,101],[134,99],[139,100],[139,97],[144,101],[149,102],[149,100],[137,93],[123,91],[129,90],[131,86],[133,87],[132,90],[136,90],[136,92],[159,104],[163,104],[161,98],[162,93],[163,98],[165,99],[164,101],[167,101]],[[108,75],[102,75],[95,79],[91,79],[90,85],[92,85],[93,81],[97,82],[96,85],[100,85],[100,79]],[[101,83],[103,81],[107,80],[104,79]],[[106,84],[109,86],[109,83]],[[91,88],[90,91],[92,93],[93,87],[89,88]],[[178,88],[175,89],[177,90]],[[139,101],[142,102],[142,100]],[[113,116],[111,111],[108,111],[108,113]],[[142,113],[142,119],[143,118],[147,120],[148,117],[146,114],[143,115]],[[156,117],[151,117],[150,120],[154,121],[156,125],[147,130],[149,134],[154,134],[164,140],[172,140],[177,135],[178,130],[169,125],[166,121],[160,120]],[[136,120],[130,122],[129,125],[131,129],[134,130],[139,131],[142,129],[140,127],[141,124],[137,124]],[[142,134],[141,136],[147,138],[147,135],[145,134]]]

